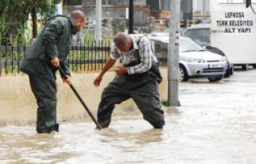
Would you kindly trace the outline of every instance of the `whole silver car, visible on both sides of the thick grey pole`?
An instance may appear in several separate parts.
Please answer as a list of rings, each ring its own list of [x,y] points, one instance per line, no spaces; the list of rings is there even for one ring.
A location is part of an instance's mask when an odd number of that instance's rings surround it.
[[[151,33],[147,37],[153,43],[155,53],[167,57],[169,33]],[[226,71],[226,57],[204,49],[188,37],[180,37],[179,80],[207,78],[212,81],[222,80]]]

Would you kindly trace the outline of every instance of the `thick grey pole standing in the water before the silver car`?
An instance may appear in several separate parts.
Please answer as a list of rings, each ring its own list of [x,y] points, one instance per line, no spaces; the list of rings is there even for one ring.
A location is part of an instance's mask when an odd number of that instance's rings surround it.
[[[178,101],[180,8],[181,0],[170,0],[168,106],[180,106],[180,102]]]

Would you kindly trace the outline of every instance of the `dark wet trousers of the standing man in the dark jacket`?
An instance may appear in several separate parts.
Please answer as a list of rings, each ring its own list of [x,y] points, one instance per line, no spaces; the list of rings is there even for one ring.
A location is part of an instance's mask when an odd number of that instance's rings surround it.
[[[37,131],[50,133],[56,129],[57,86],[54,72],[43,62],[31,63],[30,88],[38,104]]]

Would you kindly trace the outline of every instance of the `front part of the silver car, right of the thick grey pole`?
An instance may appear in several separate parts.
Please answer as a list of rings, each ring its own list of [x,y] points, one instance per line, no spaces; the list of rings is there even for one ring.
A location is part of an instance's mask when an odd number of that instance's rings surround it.
[[[208,78],[222,80],[225,74],[226,57],[211,53],[189,38],[180,39],[179,69],[180,80]]]

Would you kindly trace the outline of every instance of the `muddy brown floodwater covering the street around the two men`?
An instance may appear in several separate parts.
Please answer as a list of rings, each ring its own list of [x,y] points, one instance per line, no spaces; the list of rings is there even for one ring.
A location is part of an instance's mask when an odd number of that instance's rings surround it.
[[[181,107],[165,107],[166,126],[153,129],[139,111],[115,112],[110,128],[61,122],[60,132],[0,127],[1,164],[254,164],[256,71],[219,83],[179,84]]]

